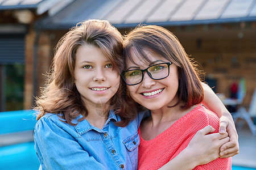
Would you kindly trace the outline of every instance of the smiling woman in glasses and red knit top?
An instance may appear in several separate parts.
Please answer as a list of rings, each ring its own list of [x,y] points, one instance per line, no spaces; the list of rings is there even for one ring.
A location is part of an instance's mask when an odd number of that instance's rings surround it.
[[[125,37],[123,54],[128,94],[151,113],[138,130],[138,169],[163,167],[205,126],[218,132],[217,115],[200,105],[204,90],[197,70],[170,31],[156,25],[138,27]],[[193,168],[231,169],[231,158],[185,169]]]

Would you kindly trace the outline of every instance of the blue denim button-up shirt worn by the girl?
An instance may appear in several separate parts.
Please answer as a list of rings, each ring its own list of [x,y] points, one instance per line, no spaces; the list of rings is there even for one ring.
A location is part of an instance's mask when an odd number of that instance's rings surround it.
[[[101,130],[87,120],[72,126],[47,113],[36,123],[34,133],[39,169],[137,169],[138,128],[144,114],[122,128],[114,125],[121,119],[110,111]]]

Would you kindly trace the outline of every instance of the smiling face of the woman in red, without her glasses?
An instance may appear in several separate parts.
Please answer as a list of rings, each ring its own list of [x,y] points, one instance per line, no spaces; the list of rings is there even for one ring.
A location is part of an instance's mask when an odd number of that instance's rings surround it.
[[[152,53],[148,53],[147,57],[152,61],[151,63],[142,62],[138,57],[135,57],[133,53],[132,58],[136,64],[128,60],[126,62],[127,70],[143,70],[151,65],[170,62],[162,57],[153,56]],[[160,67],[156,67],[155,70],[159,68]],[[141,83],[133,86],[127,86],[131,97],[137,103],[151,111],[176,104],[178,100],[177,89],[179,87],[179,74],[177,67],[174,64],[170,65],[170,74],[164,79],[154,80],[150,78],[146,72],[143,74],[144,78]]]

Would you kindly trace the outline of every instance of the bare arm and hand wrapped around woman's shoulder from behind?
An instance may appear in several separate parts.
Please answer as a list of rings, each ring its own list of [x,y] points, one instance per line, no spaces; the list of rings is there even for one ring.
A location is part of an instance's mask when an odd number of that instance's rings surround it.
[[[205,105],[205,107],[207,107],[210,111],[216,113],[220,118],[220,134],[227,131],[230,137],[230,141],[221,146],[220,156],[221,158],[229,158],[230,156],[234,156],[239,152],[239,145],[236,126],[234,125],[232,115],[226,109],[218,96],[214,94],[213,90],[207,84],[201,84],[204,88],[203,105]]]

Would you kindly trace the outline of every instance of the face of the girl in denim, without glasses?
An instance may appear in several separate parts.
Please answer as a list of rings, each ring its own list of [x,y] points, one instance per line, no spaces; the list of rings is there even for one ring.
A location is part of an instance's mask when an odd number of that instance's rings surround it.
[[[101,49],[82,45],[77,49],[75,84],[85,105],[108,104],[119,88],[120,76]]]

